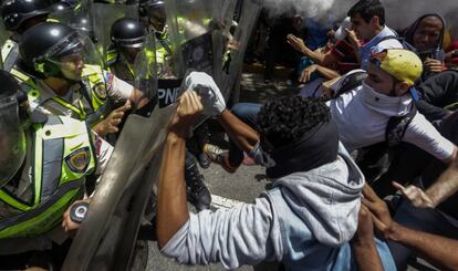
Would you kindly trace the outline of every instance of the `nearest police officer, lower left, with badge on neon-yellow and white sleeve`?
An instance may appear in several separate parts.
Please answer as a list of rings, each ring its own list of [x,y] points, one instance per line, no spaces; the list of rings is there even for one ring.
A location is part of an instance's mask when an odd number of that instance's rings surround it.
[[[50,249],[66,239],[63,213],[83,198],[86,177],[107,160],[98,154],[110,156],[112,147],[95,146],[84,122],[30,114],[8,72],[0,71],[0,256]]]

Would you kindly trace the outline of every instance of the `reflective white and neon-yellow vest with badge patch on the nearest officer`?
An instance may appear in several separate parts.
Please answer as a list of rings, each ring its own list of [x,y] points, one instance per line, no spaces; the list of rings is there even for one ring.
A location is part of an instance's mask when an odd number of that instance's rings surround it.
[[[31,237],[55,227],[96,165],[85,123],[50,116],[44,126],[34,124],[33,128],[33,202],[23,202],[0,189],[0,200],[21,211],[0,219],[0,238]],[[81,170],[72,168],[77,163],[82,163]]]

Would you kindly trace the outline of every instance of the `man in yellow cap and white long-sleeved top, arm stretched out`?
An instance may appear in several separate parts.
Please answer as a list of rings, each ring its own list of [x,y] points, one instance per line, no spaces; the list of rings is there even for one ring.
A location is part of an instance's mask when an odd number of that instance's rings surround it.
[[[423,63],[414,52],[404,49],[386,50],[372,56],[367,79],[362,86],[337,94],[329,103],[333,119],[339,126],[341,142],[348,152],[385,142],[388,121],[412,113],[415,105],[409,90],[421,72]],[[433,186],[434,189],[428,189],[426,194],[420,190],[406,192],[418,205],[437,206],[455,191],[452,184],[458,186],[458,180],[450,178],[451,173],[458,174],[457,147],[418,112],[405,128],[402,140],[412,143],[450,165],[438,179],[437,186]]]

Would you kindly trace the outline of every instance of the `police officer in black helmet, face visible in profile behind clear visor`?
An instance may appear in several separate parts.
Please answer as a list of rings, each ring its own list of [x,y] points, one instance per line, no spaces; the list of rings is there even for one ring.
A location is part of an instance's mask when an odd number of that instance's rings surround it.
[[[32,108],[86,121],[100,135],[117,133],[124,112],[147,104],[143,93],[104,71],[95,46],[67,25],[44,22],[20,43],[23,77]],[[114,111],[110,103],[125,103]],[[131,105],[132,104],[132,105]]]

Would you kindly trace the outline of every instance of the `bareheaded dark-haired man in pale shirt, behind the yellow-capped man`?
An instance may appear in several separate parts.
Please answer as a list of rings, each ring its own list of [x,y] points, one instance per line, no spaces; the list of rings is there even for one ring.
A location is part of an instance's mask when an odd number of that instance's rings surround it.
[[[378,0],[360,0],[348,11],[347,15],[352,20],[352,31],[347,30],[350,35],[356,35],[356,39],[350,39],[361,67],[367,70],[371,54],[379,53],[387,49],[400,49],[403,44],[396,39],[397,33],[385,25],[385,8]],[[361,45],[358,40],[364,41]]]

